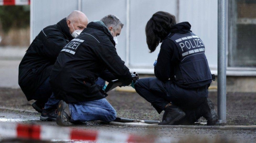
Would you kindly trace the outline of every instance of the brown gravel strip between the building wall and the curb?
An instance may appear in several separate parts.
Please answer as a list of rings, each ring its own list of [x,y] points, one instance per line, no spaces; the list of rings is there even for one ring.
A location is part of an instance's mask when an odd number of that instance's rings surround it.
[[[217,92],[210,91],[209,98],[215,104],[217,112]],[[107,100],[116,109],[117,116],[140,120],[161,121],[163,112],[159,115],[151,104],[134,92],[110,91]],[[0,88],[0,107],[35,111],[20,89]],[[227,124],[226,125],[256,125],[256,95],[255,93],[227,93]],[[206,122],[200,118],[200,122]]]

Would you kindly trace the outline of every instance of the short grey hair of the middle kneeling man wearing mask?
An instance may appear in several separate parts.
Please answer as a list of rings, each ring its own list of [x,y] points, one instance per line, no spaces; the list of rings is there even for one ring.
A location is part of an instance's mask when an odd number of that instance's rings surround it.
[[[119,18],[114,15],[107,15],[103,17],[100,21],[102,21],[108,28],[112,26],[114,30],[119,29],[119,26],[121,26],[122,29],[122,27],[124,26]]]

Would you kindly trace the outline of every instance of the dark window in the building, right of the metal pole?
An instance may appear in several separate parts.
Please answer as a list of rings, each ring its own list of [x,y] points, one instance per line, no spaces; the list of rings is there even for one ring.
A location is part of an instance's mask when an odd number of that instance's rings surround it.
[[[256,67],[256,0],[228,2],[228,67]]]

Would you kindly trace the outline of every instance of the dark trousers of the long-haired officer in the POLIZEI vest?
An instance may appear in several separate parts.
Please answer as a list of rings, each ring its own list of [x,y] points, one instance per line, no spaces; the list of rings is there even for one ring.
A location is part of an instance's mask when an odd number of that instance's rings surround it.
[[[182,89],[172,81],[157,78],[138,79],[134,84],[136,92],[145,98],[160,114],[172,102],[183,109],[194,109],[208,97],[208,88]]]

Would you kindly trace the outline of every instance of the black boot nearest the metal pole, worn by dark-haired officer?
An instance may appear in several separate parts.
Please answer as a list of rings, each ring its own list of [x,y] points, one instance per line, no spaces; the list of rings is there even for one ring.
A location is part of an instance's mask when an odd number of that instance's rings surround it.
[[[218,115],[214,110],[214,104],[208,98],[196,109],[195,114],[196,119],[204,117],[207,120],[207,126],[215,125],[218,121]]]

